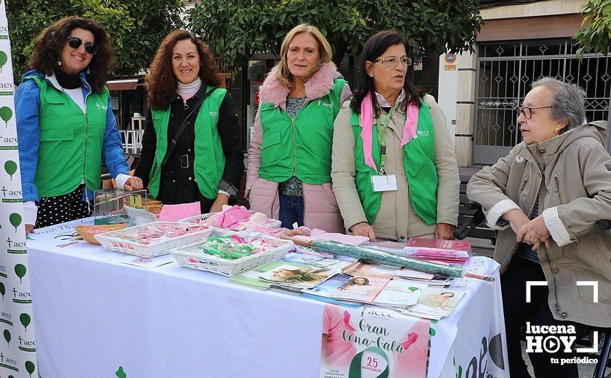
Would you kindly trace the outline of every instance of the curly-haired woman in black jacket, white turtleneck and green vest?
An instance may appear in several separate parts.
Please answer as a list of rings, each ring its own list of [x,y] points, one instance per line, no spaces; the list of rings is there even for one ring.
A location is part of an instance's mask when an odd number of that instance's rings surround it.
[[[150,65],[150,109],[136,175],[166,204],[200,202],[218,212],[238,195],[242,133],[219,69],[196,36],[175,30]]]

